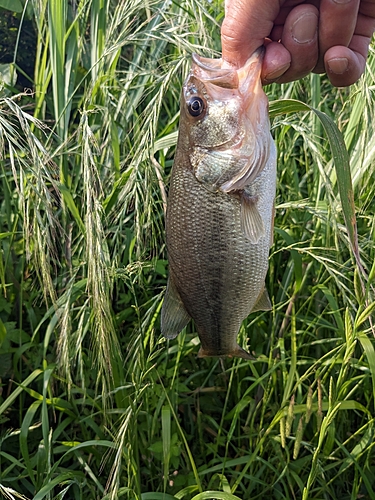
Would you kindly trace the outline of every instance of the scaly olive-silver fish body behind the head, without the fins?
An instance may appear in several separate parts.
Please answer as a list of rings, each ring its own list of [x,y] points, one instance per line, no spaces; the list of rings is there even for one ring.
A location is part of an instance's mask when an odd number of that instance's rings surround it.
[[[238,197],[208,191],[176,159],[166,226],[170,280],[195,322],[203,355],[240,355],[238,331],[264,289],[273,229],[274,157],[249,186],[265,227],[255,244],[241,231]]]

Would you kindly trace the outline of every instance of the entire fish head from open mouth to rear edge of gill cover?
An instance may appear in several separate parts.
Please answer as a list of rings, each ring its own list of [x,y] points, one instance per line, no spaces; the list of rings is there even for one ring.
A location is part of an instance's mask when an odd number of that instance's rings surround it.
[[[262,60],[258,49],[236,69],[225,67],[222,59],[193,54],[182,91],[180,133],[197,179],[209,189],[243,189],[264,168],[270,133]]]

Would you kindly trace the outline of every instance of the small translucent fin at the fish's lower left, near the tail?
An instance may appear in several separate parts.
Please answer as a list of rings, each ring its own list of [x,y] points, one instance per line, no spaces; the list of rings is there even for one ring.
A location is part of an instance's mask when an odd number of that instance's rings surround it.
[[[186,312],[173,279],[169,277],[161,310],[161,333],[167,339],[174,339],[189,321],[190,316]]]

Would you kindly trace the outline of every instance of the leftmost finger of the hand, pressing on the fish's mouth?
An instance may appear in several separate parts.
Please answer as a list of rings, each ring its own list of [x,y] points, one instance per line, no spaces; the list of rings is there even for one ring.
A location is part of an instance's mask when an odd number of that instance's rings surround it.
[[[243,66],[270,34],[279,8],[279,0],[227,1],[221,27],[223,60],[237,67]]]

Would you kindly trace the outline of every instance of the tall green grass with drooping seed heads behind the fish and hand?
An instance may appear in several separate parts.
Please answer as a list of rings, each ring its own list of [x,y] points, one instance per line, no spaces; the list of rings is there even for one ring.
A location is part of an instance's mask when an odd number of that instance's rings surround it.
[[[373,49],[350,89],[266,89],[273,310],[241,329],[255,362],[197,359],[193,325],[160,338],[164,211],[181,83],[193,51],[218,55],[222,2],[0,6],[0,493],[374,499]]]

